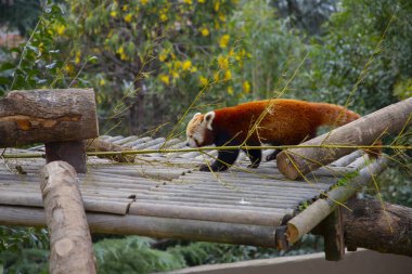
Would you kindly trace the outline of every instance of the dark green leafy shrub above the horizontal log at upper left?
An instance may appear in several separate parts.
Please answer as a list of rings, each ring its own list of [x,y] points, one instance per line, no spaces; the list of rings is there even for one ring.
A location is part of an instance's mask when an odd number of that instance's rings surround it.
[[[26,43],[14,49],[1,49],[8,54],[0,65],[0,93],[18,89],[68,88],[86,84],[76,75],[73,61],[63,58],[69,43],[60,43],[66,18],[62,8],[50,3],[43,6],[38,23]]]

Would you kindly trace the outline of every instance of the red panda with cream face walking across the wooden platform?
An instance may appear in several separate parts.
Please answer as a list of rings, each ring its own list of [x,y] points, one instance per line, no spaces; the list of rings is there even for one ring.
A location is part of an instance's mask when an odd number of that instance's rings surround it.
[[[289,99],[275,99],[244,103],[209,112],[197,113],[188,123],[188,145],[199,147],[216,146],[259,146],[296,145],[316,136],[321,126],[343,126],[360,116],[339,105],[312,103]],[[259,122],[260,121],[260,122]],[[223,171],[236,160],[237,151],[218,152],[210,166],[201,167],[202,171]],[[246,152],[246,151],[245,151]],[[280,151],[274,151],[267,160],[275,159]],[[261,161],[261,149],[246,152],[257,168]]]

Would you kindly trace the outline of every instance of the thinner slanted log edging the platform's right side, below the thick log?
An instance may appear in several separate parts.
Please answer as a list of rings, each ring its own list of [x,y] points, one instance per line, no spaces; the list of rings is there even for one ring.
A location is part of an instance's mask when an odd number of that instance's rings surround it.
[[[359,175],[347,181],[344,186],[337,186],[327,193],[325,199],[318,199],[287,223],[287,240],[296,243],[302,235],[309,233],[336,207],[348,200],[358,190],[368,185],[372,178],[384,170],[386,159],[376,161],[359,171]]]

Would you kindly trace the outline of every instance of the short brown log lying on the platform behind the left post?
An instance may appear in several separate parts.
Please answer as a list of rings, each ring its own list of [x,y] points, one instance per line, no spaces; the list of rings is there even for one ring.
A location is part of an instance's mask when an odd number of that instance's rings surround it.
[[[130,147],[114,144],[106,140],[90,139],[86,143],[88,152],[123,152],[130,151]],[[108,158],[118,162],[134,162],[136,155],[106,155],[99,156],[101,158]]]

